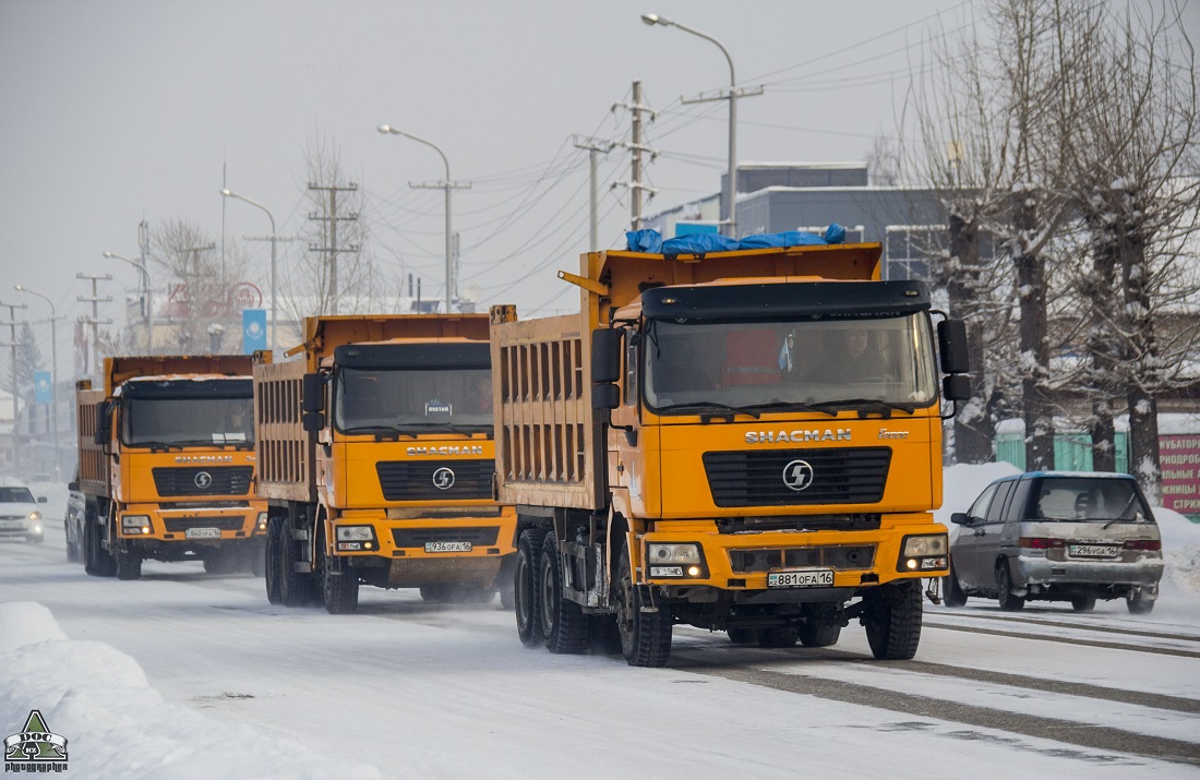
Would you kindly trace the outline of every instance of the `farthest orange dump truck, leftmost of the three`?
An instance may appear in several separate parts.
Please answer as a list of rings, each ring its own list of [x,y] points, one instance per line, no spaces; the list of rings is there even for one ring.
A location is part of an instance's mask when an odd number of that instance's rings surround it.
[[[88,574],[137,580],[148,558],[262,572],[250,373],[245,355],[107,358],[103,389],[77,384]]]

